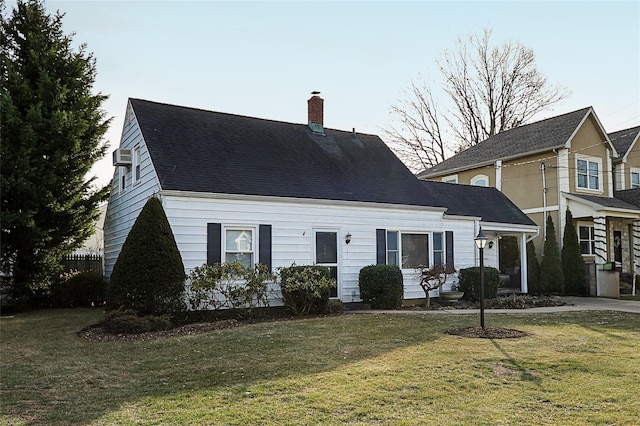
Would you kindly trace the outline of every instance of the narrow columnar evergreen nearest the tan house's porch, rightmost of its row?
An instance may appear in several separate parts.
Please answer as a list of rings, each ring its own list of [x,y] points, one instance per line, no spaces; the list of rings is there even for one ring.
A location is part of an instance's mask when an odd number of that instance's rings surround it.
[[[587,280],[584,270],[584,259],[582,258],[576,227],[573,223],[573,215],[568,208],[562,245],[562,272],[564,274],[565,292],[567,294],[584,295],[586,293]]]

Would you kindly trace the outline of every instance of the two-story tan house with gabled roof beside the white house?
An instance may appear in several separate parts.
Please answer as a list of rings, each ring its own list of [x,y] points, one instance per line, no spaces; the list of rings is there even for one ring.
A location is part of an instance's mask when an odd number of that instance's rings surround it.
[[[640,263],[640,207],[615,197],[613,170],[620,172],[616,188],[633,186],[640,167],[637,133],[637,128],[635,134],[616,132],[611,139],[593,109],[584,108],[501,132],[418,177],[502,191],[542,228],[534,240],[539,258],[546,216],[553,218],[562,247],[569,208],[588,267],[589,293],[618,296],[619,276],[605,269],[613,263],[630,273]]]

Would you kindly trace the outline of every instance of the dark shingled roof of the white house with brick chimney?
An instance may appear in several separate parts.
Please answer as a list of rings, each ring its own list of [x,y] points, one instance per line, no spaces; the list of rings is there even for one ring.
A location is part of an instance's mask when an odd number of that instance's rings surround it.
[[[164,190],[443,207],[533,225],[497,191],[418,180],[375,135],[130,102]]]

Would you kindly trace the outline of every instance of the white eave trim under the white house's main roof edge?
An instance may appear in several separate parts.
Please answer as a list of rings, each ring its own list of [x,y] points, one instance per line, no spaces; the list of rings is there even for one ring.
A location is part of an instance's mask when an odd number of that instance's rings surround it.
[[[380,209],[404,209],[404,210],[421,210],[428,212],[437,212],[444,214],[447,209],[445,207],[418,206],[408,204],[387,204],[367,201],[344,201],[344,200],[326,200],[314,198],[293,198],[293,197],[276,197],[267,195],[244,195],[244,194],[223,194],[213,192],[194,192],[194,191],[175,191],[161,190],[161,196],[180,197],[180,198],[200,198],[214,200],[239,200],[239,201],[261,201],[276,203],[295,203],[295,204],[322,204],[322,205],[338,205],[344,207],[367,207]]]

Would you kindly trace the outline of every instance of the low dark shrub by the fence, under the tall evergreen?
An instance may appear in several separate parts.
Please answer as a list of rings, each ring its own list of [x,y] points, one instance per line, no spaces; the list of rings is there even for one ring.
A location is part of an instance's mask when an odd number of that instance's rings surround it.
[[[95,272],[67,272],[54,287],[54,301],[64,308],[101,305],[104,287],[102,275]]]

